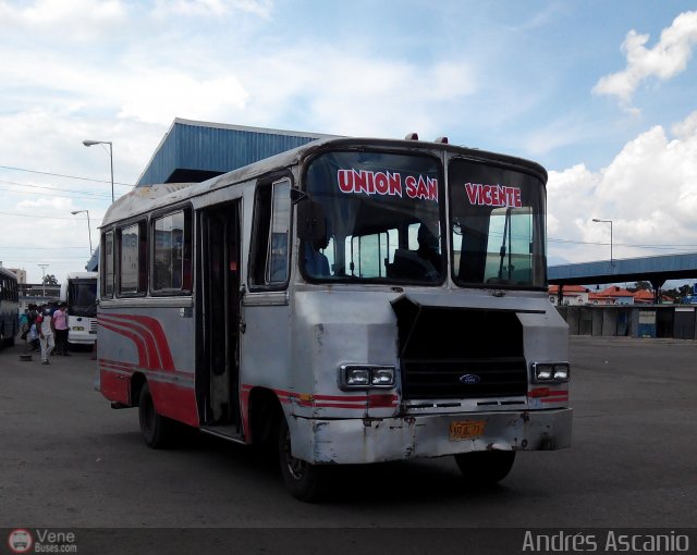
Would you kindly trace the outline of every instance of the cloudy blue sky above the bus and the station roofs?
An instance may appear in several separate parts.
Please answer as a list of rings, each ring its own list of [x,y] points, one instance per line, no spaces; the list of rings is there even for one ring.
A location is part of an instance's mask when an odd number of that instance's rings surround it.
[[[62,280],[174,118],[545,165],[551,263],[697,251],[697,10],[648,0],[0,0],[0,260]]]

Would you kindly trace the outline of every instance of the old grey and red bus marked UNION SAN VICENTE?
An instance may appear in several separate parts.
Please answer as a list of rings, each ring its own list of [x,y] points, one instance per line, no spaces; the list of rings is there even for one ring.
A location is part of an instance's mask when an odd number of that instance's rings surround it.
[[[276,445],[305,501],[338,465],[415,457],[498,482],[571,444],[546,182],[444,140],[334,138],[136,188],[101,226],[100,391],[154,448],[182,423]]]

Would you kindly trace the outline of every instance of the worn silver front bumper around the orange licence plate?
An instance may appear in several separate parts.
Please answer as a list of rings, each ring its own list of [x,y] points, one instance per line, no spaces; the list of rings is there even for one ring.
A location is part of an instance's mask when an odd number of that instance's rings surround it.
[[[453,422],[475,422],[480,433],[451,440]],[[341,420],[291,417],[289,427],[295,457],[355,465],[489,449],[561,449],[571,446],[572,409]]]

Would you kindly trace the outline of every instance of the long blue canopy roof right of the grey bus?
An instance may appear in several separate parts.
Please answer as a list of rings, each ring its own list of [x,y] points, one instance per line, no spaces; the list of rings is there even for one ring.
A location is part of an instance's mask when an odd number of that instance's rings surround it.
[[[548,269],[548,281],[560,286],[560,296],[563,295],[564,285],[647,281],[653,287],[656,303],[659,289],[667,280],[695,278],[697,252],[551,266]]]

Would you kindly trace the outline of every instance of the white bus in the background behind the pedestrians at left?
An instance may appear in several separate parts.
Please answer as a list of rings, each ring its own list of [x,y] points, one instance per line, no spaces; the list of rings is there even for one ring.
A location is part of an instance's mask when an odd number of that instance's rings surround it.
[[[69,272],[61,284],[68,305],[68,343],[94,345],[97,341],[97,272]]]

